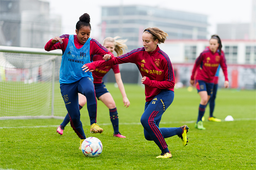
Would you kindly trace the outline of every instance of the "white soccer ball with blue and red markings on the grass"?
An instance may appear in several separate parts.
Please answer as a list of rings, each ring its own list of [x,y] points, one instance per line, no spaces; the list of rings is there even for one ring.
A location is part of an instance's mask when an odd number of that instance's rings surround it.
[[[81,150],[86,157],[97,157],[102,152],[102,143],[96,137],[88,137],[84,139]]]

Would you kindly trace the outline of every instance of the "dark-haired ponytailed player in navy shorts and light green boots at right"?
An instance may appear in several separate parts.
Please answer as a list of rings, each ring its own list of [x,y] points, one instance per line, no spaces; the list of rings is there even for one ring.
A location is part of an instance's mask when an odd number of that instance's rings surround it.
[[[213,78],[216,74],[219,64],[225,76],[224,87],[228,88],[229,86],[226,59],[221,53],[222,44],[220,37],[218,35],[212,36],[209,44],[210,45],[196,59],[190,80],[190,84],[194,85],[194,76],[195,72],[197,71],[195,86],[197,88],[198,94],[201,97],[201,101],[195,128],[201,130],[205,130],[202,117],[204,116],[205,107],[212,94],[214,84]]]

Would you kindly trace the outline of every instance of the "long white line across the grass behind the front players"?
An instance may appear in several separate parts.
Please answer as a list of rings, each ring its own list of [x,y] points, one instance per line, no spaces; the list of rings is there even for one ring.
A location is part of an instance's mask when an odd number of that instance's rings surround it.
[[[241,119],[234,119],[234,121],[241,121],[241,120],[256,120],[256,118],[241,118]],[[222,120],[223,122],[225,122],[225,120]],[[195,120],[192,121],[187,121],[187,122],[160,122],[160,124],[174,124],[174,123],[182,123],[182,124],[189,124],[189,123],[195,123]],[[108,126],[108,125],[112,125],[111,123],[102,123],[100,124],[102,126]],[[133,123],[119,123],[119,125],[141,125],[141,123],[137,123],[137,122],[133,122]],[[59,125],[47,125],[47,126],[20,126],[20,127],[0,127],[0,129],[11,129],[11,128],[48,128],[48,127],[58,127]],[[70,126],[70,124],[68,124],[67,126]],[[86,125],[84,125],[86,126]],[[90,125],[88,125],[90,126]]]

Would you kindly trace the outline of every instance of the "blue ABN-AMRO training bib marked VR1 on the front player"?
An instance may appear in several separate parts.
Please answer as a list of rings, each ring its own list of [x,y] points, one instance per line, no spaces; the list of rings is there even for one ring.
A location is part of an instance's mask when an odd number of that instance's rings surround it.
[[[77,49],[74,44],[74,35],[69,35],[67,48],[62,55],[61,67],[59,71],[59,83],[74,83],[82,77],[90,77],[93,80],[91,72],[84,72],[82,66],[90,63],[90,40],[84,43],[82,48]]]

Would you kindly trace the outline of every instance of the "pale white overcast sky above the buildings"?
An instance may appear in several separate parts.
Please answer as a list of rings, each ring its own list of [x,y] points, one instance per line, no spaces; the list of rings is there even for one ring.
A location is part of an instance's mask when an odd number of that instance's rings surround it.
[[[50,3],[51,14],[62,16],[62,34],[75,34],[75,25],[79,17],[88,13],[91,18],[91,37],[100,35],[101,6],[145,5],[208,16],[208,32],[216,33],[216,24],[251,22],[252,1],[255,0],[45,0]],[[60,35],[59,35],[60,36]]]

